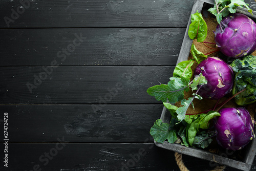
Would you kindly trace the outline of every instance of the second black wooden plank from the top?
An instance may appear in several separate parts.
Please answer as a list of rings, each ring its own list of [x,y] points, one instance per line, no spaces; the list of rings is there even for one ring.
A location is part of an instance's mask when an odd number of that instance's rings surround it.
[[[175,65],[185,29],[0,29],[0,66]],[[74,48],[74,49],[73,49]],[[146,62],[140,62],[146,58]]]

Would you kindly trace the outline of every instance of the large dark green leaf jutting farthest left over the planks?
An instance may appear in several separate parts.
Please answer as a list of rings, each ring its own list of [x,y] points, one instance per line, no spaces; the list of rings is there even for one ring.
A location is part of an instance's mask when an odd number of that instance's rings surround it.
[[[147,93],[162,102],[166,102],[168,99],[170,103],[176,103],[184,99],[184,91],[189,91],[188,83],[188,78],[170,77],[170,81],[167,84],[148,88]]]

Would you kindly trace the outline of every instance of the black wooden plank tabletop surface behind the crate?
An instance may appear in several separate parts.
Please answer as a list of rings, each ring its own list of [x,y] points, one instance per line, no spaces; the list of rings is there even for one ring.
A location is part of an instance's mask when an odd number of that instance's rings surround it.
[[[149,134],[163,106],[146,90],[172,76],[193,5],[0,1],[0,170],[178,171]],[[216,166],[183,158],[190,170]]]

